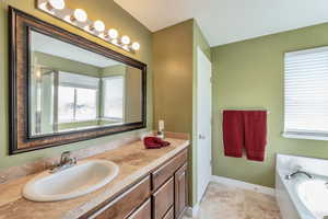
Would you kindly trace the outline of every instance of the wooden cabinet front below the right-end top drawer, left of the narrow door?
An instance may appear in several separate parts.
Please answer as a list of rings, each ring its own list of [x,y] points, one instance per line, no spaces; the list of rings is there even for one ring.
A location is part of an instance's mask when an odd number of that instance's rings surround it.
[[[153,219],[162,219],[174,204],[174,180],[171,177],[153,194]]]

